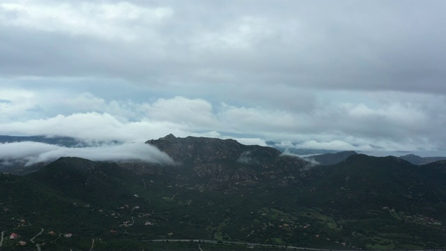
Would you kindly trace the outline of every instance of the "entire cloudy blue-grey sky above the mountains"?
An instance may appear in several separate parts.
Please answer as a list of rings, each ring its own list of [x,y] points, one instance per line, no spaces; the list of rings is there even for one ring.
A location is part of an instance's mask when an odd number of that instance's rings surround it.
[[[446,155],[445,8],[0,0],[0,135]]]

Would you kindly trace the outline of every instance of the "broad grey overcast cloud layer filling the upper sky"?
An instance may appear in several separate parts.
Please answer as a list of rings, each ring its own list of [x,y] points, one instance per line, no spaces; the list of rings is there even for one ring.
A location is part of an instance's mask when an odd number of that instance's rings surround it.
[[[99,75],[202,87],[446,88],[443,1],[65,3],[70,8],[63,11],[79,25],[48,16],[61,9],[59,2],[3,4],[2,75]],[[141,11],[126,17],[125,10]],[[87,13],[91,24],[82,24]]]

